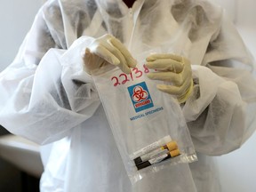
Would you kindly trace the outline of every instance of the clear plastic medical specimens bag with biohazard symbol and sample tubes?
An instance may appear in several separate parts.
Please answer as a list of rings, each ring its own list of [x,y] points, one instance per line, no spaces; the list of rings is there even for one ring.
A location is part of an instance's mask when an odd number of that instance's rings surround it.
[[[136,58],[137,67],[129,75],[111,65],[92,72],[132,183],[171,164],[196,161],[180,104],[147,78],[145,58]]]

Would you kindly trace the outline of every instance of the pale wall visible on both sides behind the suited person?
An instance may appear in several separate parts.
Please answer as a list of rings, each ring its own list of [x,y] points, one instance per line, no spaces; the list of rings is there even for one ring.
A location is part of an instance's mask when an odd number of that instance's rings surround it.
[[[227,9],[256,58],[256,1],[212,0]],[[30,28],[43,0],[9,0],[0,3],[0,71],[9,65]],[[246,12],[246,13],[245,13]],[[256,134],[244,146],[216,157],[223,192],[256,191]]]

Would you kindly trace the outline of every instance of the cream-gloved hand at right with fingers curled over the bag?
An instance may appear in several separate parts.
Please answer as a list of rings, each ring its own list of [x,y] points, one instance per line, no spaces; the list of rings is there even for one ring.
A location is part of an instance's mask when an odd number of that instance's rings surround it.
[[[180,103],[188,100],[193,90],[190,61],[174,54],[152,54],[146,59],[146,66],[156,69],[148,78],[171,82],[172,85],[157,84],[157,89],[175,95]]]

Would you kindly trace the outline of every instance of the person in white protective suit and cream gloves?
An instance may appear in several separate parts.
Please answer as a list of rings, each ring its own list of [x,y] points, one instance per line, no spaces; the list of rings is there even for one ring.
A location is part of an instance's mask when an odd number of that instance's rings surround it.
[[[0,75],[0,124],[43,146],[42,192],[221,191],[211,156],[254,132],[251,54],[206,0],[124,2],[47,1]],[[157,69],[148,77],[173,83],[157,88],[180,101],[198,161],[132,185],[90,71],[112,64],[129,73],[132,55],[153,48],[167,53],[148,55],[148,68]]]

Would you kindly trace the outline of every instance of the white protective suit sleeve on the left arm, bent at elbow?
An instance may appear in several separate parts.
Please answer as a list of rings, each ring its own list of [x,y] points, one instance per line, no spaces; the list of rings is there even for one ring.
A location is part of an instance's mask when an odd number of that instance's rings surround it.
[[[0,124],[39,144],[67,136],[100,105],[81,57],[92,39],[81,37],[68,50],[55,39],[41,9],[16,59],[0,74]]]

